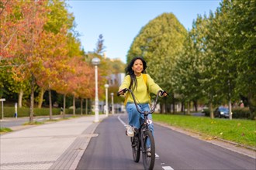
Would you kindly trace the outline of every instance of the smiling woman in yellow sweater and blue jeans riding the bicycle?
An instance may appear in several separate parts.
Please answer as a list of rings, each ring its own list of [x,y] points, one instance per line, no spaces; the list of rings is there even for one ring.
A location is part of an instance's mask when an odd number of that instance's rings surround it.
[[[119,87],[119,94],[123,95],[123,89],[133,90],[133,94],[136,97],[137,104],[141,111],[150,110],[150,93],[157,94],[157,91],[163,91],[162,96],[166,97],[168,94],[154,83],[154,80],[146,73],[147,63],[142,57],[135,57],[126,66],[126,76],[123,83]],[[128,113],[128,126],[126,127],[126,134],[133,137],[134,131],[140,128],[141,114],[137,111],[137,108],[133,102],[133,97],[130,92],[126,92],[126,111]],[[152,115],[149,114],[148,118],[152,120]],[[150,124],[150,131],[154,134],[154,126]]]

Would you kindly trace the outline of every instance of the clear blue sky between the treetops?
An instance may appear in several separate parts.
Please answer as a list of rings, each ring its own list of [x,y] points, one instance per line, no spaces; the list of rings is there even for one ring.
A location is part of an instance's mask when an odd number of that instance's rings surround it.
[[[85,52],[96,48],[102,34],[106,56],[121,59],[133,39],[148,22],[164,12],[173,13],[185,29],[192,29],[197,15],[209,15],[220,7],[221,0],[68,0]]]

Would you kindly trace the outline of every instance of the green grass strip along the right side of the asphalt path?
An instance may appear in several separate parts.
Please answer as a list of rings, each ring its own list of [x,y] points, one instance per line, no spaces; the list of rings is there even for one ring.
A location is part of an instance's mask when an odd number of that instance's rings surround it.
[[[210,119],[209,117],[195,117],[174,114],[153,114],[153,120],[199,132],[206,138],[222,138],[234,141],[240,145],[256,148],[256,121],[241,119]]]

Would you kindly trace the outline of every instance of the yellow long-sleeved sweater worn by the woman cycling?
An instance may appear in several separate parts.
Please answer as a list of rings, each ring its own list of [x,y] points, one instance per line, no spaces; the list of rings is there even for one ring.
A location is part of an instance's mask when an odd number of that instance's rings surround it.
[[[147,85],[144,82],[143,75],[136,76],[137,78],[137,88],[133,90],[134,96],[136,97],[136,101],[138,104],[150,104],[150,93],[157,94],[158,90],[161,90],[161,88],[157,85],[157,83],[154,83],[154,80],[150,77],[150,75],[147,74]],[[134,83],[133,83],[134,86]],[[130,75],[127,75],[124,77],[123,83],[119,87],[119,90],[123,90],[125,88],[130,87]],[[148,90],[148,91],[147,91]],[[127,103],[134,103],[133,97],[128,93],[128,100]],[[127,94],[126,94],[127,95]]]

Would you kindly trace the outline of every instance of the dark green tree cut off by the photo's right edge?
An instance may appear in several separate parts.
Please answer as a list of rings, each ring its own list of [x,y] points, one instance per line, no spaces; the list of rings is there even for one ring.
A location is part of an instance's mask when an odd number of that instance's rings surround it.
[[[256,2],[223,1],[222,8],[227,15],[232,55],[230,59],[237,66],[235,90],[247,97],[251,118],[256,117]]]

